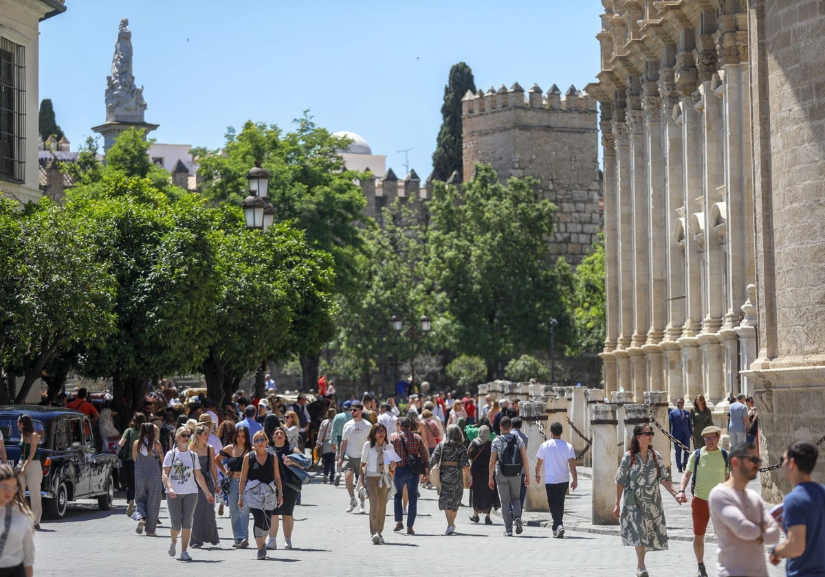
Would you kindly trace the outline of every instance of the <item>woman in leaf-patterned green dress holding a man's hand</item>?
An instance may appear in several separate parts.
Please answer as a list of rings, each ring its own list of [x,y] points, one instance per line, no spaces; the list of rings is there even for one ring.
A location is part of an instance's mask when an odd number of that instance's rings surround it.
[[[648,577],[644,556],[647,551],[667,549],[667,525],[659,493],[659,483],[681,504],[670,480],[662,455],[653,448],[653,429],[636,425],[630,450],[616,471],[616,503],[613,515],[620,520],[622,545],[636,549],[636,577]],[[620,509],[622,495],[624,506]]]

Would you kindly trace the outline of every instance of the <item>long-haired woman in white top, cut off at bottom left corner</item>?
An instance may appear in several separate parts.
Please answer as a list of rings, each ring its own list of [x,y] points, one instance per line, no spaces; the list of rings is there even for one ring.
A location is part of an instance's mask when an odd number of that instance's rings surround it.
[[[26,415],[28,416],[28,415]],[[35,564],[35,535],[23,485],[11,465],[0,465],[0,575],[31,577]]]

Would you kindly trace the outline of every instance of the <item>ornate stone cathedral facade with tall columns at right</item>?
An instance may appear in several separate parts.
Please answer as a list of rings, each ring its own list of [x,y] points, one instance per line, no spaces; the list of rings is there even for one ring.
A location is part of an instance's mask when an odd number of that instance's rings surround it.
[[[825,11],[602,2],[606,389],[752,393],[773,462],[825,435]]]

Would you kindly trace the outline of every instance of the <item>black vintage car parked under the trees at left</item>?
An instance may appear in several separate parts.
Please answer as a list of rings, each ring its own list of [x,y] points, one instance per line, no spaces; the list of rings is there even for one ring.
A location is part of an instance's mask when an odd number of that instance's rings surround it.
[[[115,496],[117,456],[97,453],[92,422],[79,410],[50,406],[0,406],[0,431],[9,462],[20,459],[17,417],[31,415],[40,434],[38,453],[43,467],[43,512],[50,518],[66,514],[69,501],[97,497],[101,510],[111,509]]]

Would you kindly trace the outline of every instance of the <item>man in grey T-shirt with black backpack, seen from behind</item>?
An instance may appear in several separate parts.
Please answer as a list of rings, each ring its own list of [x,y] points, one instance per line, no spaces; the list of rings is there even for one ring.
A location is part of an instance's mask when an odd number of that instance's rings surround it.
[[[512,433],[512,420],[502,417],[502,434],[493,439],[490,447],[490,469],[488,484],[490,489],[498,487],[498,496],[502,500],[502,517],[504,518],[504,535],[512,537],[513,523],[516,534],[524,529],[521,525],[521,479],[524,485],[530,485],[527,475],[527,448],[518,434]],[[495,479],[493,481],[493,478]]]

